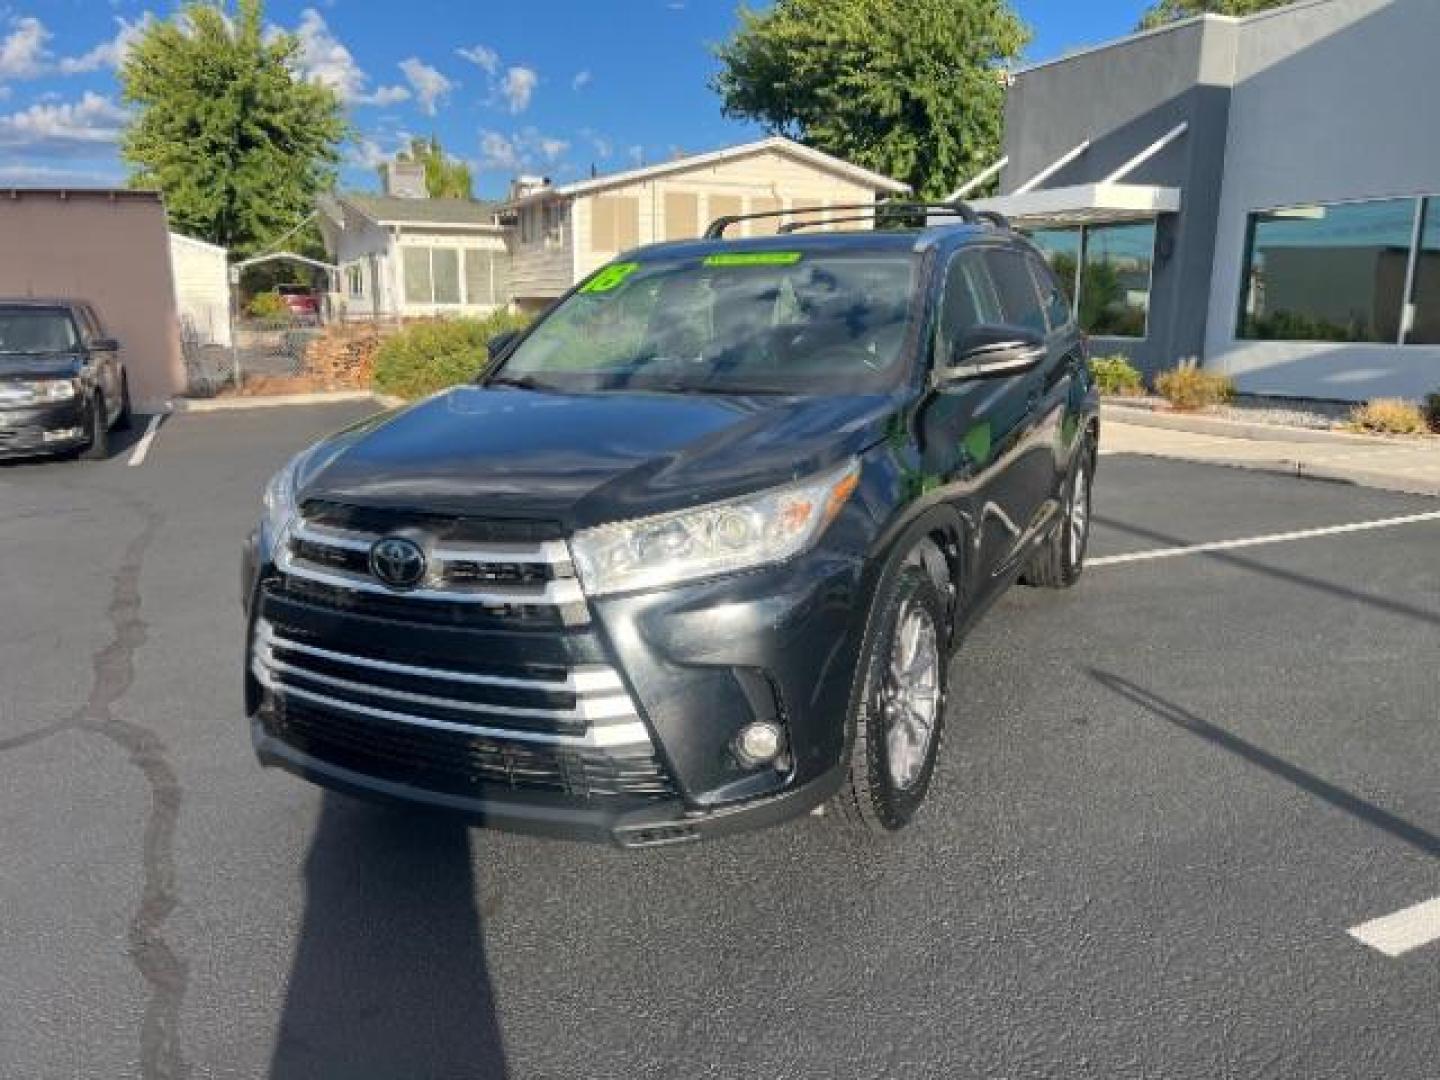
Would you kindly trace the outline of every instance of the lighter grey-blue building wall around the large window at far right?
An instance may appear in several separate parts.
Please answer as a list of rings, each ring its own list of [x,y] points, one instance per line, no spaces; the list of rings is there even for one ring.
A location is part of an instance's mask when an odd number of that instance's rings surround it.
[[[1243,390],[1417,397],[1440,348],[1237,341],[1247,216],[1303,203],[1440,194],[1436,0],[1323,0],[1241,24],[1210,287],[1210,366]]]

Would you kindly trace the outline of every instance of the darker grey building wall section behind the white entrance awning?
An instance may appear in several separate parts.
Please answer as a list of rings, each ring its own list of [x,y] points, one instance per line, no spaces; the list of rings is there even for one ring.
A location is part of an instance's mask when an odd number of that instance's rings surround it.
[[[1022,71],[1007,99],[1005,193],[1083,140],[1092,140],[1090,148],[1043,187],[1103,180],[1178,124],[1189,124],[1182,140],[1125,177],[1182,189],[1181,212],[1158,222],[1149,334],[1094,344],[1096,351],[1129,354],[1148,372],[1204,348],[1202,298],[1211,276],[1233,56],[1231,24],[1191,22]]]

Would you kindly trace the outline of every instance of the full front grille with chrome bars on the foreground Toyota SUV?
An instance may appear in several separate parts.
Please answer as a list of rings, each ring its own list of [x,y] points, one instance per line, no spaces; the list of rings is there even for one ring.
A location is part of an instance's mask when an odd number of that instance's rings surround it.
[[[387,588],[370,549],[426,556]],[[554,527],[307,503],[276,544],[251,672],[276,737],[435,791],[665,798],[649,730]]]

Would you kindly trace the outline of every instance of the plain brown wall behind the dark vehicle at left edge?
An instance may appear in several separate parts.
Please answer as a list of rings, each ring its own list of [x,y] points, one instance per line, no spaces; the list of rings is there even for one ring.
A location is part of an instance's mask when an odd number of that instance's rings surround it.
[[[4,192],[0,297],[91,301],[120,340],[138,409],[184,389],[170,232],[157,194]]]

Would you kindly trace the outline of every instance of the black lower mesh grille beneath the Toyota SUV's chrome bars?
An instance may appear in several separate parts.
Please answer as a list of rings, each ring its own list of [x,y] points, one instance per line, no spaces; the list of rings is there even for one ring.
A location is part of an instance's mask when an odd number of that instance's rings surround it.
[[[500,786],[585,799],[675,793],[648,747],[622,753],[523,744],[341,719],[297,704],[275,707],[265,723],[271,734],[323,762],[426,791],[478,795]]]

